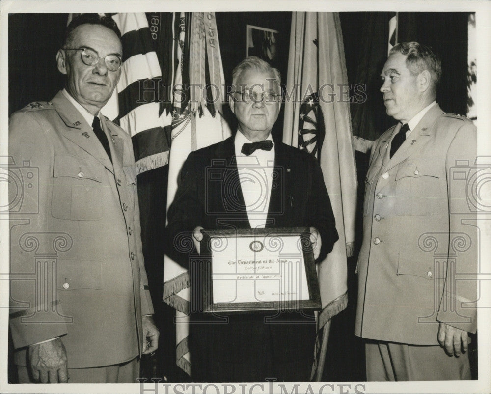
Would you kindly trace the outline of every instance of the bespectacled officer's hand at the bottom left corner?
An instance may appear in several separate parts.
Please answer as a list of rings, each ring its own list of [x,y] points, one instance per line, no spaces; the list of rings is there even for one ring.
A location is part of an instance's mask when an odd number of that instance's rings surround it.
[[[60,338],[29,346],[29,363],[34,380],[68,383],[66,350]]]

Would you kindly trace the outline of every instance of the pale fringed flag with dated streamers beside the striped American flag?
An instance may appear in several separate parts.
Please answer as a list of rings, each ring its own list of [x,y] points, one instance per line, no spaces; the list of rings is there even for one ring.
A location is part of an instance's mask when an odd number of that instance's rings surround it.
[[[174,39],[174,52],[178,64],[174,84],[167,208],[174,199],[179,171],[188,154],[231,135],[228,124],[221,116],[225,80],[215,13],[180,13],[176,17],[178,31]],[[194,97],[186,88],[188,83],[197,86]],[[206,88],[211,85],[218,89]],[[176,309],[176,363],[191,375],[188,347],[189,286],[188,271],[165,256],[164,302]]]

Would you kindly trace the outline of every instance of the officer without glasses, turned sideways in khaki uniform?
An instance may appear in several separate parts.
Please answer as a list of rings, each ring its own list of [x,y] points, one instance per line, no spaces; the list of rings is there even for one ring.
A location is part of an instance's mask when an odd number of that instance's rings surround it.
[[[475,164],[476,128],[436,104],[440,75],[417,42],[392,48],[381,74],[399,123],[375,141],[366,178],[355,334],[369,381],[470,379],[477,286],[456,278],[476,273],[477,230],[452,168]]]

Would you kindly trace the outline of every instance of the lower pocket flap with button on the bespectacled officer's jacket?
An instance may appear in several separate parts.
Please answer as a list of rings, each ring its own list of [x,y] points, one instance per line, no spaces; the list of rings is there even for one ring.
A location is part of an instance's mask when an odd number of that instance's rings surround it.
[[[102,289],[101,262],[63,260],[58,262],[58,290]]]

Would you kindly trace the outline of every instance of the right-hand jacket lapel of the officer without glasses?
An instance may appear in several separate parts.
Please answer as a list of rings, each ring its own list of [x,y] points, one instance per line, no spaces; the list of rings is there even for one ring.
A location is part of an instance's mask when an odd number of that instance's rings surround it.
[[[431,137],[432,127],[435,124],[436,119],[440,117],[442,113],[443,111],[438,104],[434,105],[427,113],[425,113],[414,130],[411,131],[409,137],[406,138],[401,147],[389,160],[385,169],[386,171],[405,161],[410,155],[424,146],[426,141]],[[400,128],[400,126],[398,127]]]

